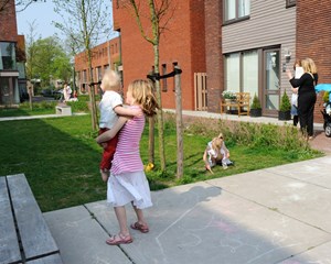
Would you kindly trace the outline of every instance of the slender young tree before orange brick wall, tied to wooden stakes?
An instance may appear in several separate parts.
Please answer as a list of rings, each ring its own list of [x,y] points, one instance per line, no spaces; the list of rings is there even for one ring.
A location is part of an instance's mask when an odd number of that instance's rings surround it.
[[[152,45],[154,54],[154,76],[159,76],[159,45],[160,36],[167,30],[168,22],[173,16],[175,4],[171,0],[122,0],[121,8],[127,8],[136,18],[141,36]],[[151,29],[151,31],[150,31]],[[151,32],[151,33],[148,33]],[[161,170],[166,170],[166,154],[164,154],[164,134],[163,134],[163,112],[161,101],[160,81],[156,78],[156,96],[161,108],[158,111],[158,131],[159,131],[159,155]]]

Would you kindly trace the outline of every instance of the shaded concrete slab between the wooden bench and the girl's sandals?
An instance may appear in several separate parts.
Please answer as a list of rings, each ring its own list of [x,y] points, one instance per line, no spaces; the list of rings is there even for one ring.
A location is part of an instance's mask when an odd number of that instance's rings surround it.
[[[131,264],[120,248],[105,243],[107,233],[84,206],[43,216],[65,264]]]

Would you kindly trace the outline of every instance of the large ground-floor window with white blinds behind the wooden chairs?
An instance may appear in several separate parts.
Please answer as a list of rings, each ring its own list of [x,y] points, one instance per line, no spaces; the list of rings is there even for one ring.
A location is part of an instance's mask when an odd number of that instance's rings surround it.
[[[258,96],[257,51],[233,53],[225,56],[225,90],[247,91]]]

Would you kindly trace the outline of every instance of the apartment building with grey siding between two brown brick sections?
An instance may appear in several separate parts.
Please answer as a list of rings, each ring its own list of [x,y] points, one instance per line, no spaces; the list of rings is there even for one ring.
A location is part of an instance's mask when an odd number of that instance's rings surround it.
[[[330,11],[327,0],[206,0],[209,111],[218,111],[223,90],[249,91],[276,117],[280,96],[291,94],[285,68],[297,58],[314,59],[319,81],[331,82]],[[316,106],[321,121],[321,96]]]

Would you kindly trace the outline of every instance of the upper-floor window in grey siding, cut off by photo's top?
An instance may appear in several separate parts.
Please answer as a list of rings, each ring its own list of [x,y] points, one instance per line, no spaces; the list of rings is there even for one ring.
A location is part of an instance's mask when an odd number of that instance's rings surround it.
[[[225,0],[225,21],[236,21],[249,16],[250,0]]]

